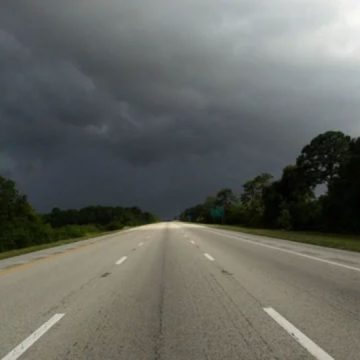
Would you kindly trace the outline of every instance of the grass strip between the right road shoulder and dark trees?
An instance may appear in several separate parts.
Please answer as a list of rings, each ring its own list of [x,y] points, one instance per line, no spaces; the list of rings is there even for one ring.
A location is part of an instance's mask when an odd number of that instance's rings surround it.
[[[344,234],[325,234],[319,232],[287,231],[270,229],[253,229],[232,225],[207,225],[210,227],[243,232],[252,235],[262,235],[277,239],[325,246],[335,249],[360,252],[360,236]]]

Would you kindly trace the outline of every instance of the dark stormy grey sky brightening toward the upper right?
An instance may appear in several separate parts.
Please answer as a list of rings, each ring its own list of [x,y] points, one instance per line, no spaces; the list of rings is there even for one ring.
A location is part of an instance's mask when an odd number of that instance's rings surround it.
[[[0,174],[163,218],[360,135],[357,0],[2,0]]]

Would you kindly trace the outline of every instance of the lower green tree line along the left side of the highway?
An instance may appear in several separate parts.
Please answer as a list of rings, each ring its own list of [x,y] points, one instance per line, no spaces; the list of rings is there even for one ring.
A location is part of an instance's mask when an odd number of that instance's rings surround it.
[[[155,222],[138,207],[54,208],[38,214],[14,181],[0,176],[0,252]]]

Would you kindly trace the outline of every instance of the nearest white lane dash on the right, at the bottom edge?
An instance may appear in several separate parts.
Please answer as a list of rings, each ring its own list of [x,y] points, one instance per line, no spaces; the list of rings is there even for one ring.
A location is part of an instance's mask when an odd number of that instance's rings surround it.
[[[299,344],[301,344],[311,355],[318,360],[334,360],[321,347],[316,345],[311,339],[297,329],[293,324],[287,321],[273,308],[264,308],[264,311],[271,316],[283,329],[285,329],[291,337],[293,337]]]

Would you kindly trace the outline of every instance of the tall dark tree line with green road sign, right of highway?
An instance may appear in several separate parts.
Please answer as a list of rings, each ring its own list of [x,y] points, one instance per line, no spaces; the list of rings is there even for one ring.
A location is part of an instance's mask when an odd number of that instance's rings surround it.
[[[286,230],[360,233],[360,138],[316,136],[274,179],[263,173],[242,192],[222,189],[180,214],[183,221]]]

